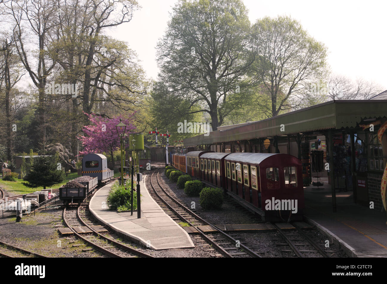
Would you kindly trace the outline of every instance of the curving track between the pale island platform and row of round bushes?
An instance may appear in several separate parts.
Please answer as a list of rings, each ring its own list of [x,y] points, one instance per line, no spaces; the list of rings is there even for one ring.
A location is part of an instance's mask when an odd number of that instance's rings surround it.
[[[158,202],[161,208],[163,208],[163,210],[175,221],[180,219],[194,227],[199,232],[200,236],[220,253],[220,255],[213,256],[260,257],[260,255],[243,245],[240,240],[236,240],[233,236],[226,234],[216,226],[213,226],[200,218],[200,216],[185,206],[181,200],[171,196],[160,184],[159,172],[160,170],[158,170],[157,173],[153,172],[151,177],[147,179],[148,188],[152,198]],[[200,226],[211,226],[216,233],[206,234],[200,229]]]

